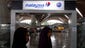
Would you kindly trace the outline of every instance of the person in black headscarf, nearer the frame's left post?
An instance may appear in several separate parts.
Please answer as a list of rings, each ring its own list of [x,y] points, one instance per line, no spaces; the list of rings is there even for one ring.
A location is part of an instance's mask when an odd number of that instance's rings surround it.
[[[14,33],[12,48],[27,48],[26,43],[29,40],[28,30],[20,27]]]

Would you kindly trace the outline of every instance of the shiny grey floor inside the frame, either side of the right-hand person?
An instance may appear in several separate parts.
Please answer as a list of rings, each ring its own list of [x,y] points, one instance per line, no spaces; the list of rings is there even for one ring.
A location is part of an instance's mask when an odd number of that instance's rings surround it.
[[[68,34],[67,33],[52,33],[51,42],[52,48],[68,48]],[[27,44],[29,48],[38,48],[39,33],[33,34],[30,38],[30,43]]]

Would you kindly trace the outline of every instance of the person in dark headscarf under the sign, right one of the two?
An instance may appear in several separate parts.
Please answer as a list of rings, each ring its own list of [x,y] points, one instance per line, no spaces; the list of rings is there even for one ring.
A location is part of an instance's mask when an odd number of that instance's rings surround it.
[[[51,43],[51,36],[52,29],[49,27],[45,27],[40,32],[40,38],[39,38],[39,48],[52,48]]]

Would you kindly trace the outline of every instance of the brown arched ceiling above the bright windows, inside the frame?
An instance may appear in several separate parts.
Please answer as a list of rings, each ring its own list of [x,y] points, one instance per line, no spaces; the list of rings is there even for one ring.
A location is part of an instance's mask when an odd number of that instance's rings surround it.
[[[60,20],[64,23],[68,23],[68,18],[70,18],[71,13],[17,13],[16,20],[32,20],[32,15],[35,16],[36,21],[40,23],[45,22],[46,20]],[[65,15],[67,15],[68,18],[65,17]]]

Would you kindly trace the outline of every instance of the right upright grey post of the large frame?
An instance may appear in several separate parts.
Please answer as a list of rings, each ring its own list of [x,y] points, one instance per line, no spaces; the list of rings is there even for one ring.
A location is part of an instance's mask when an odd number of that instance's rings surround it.
[[[76,11],[72,12],[70,17],[70,36],[71,36],[71,48],[77,48],[77,13]]]

